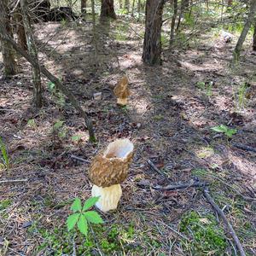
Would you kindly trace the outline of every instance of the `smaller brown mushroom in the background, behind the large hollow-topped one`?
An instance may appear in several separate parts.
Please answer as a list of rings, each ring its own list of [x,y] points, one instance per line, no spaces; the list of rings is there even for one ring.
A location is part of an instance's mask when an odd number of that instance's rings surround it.
[[[127,105],[127,98],[130,96],[130,90],[128,89],[128,79],[126,76],[119,80],[118,84],[114,87],[113,92],[114,95],[117,96],[118,105]]]

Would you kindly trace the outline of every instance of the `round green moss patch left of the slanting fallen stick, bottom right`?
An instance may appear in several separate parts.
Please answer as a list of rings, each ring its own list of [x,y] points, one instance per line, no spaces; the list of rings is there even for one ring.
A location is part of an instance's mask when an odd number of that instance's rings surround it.
[[[224,255],[227,241],[224,230],[212,214],[201,216],[191,211],[183,215],[180,231],[191,236],[191,241],[183,240],[183,249],[192,255]]]

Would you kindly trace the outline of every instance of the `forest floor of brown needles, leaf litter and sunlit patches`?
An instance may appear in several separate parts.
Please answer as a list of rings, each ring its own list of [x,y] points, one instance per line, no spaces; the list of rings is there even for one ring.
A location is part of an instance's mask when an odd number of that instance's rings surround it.
[[[0,182],[25,179],[0,184],[2,255],[72,255],[74,247],[73,255],[238,254],[202,189],[152,189],[198,180],[209,183],[247,254],[256,255],[256,153],[237,148],[256,148],[256,55],[247,51],[230,69],[236,40],[226,44],[208,32],[185,47],[165,49],[162,66],[147,67],[142,24],[118,20],[96,29],[97,70],[90,22],[35,28],[41,63],[89,113],[96,144],[47,79],[44,108],[32,107],[31,69],[23,59],[20,73],[0,83],[0,135],[11,162],[0,171]],[[119,108],[113,87],[123,75],[131,97]],[[93,98],[96,92],[102,100]],[[217,125],[237,133],[229,138],[212,131]],[[73,199],[90,197],[90,161],[119,137],[130,138],[136,149],[119,207],[101,212],[105,223],[87,239],[75,236],[65,224]]]

